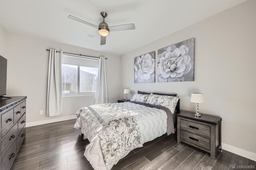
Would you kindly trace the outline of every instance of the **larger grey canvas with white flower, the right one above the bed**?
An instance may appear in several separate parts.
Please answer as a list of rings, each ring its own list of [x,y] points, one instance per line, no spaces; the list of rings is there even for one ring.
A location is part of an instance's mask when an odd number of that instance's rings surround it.
[[[194,81],[194,38],[158,50],[158,82]]]

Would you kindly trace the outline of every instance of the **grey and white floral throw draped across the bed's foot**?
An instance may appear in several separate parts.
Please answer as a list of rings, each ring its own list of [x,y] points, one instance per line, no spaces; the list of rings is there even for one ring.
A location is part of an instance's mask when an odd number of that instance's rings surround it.
[[[120,160],[131,150],[142,147],[137,120],[127,109],[99,104],[84,107],[76,115],[82,116],[96,129],[106,166]]]

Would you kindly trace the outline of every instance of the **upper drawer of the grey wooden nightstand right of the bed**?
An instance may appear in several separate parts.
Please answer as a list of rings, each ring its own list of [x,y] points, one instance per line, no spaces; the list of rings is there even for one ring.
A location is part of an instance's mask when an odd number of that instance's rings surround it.
[[[180,129],[210,138],[210,126],[180,120]]]

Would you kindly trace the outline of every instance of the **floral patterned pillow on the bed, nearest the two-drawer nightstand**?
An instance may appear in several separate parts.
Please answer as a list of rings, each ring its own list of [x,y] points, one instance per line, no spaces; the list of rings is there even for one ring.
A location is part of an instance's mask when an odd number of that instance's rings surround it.
[[[179,99],[180,97],[175,96],[162,96],[157,94],[150,94],[146,103],[156,106],[164,106],[168,108],[173,114]]]

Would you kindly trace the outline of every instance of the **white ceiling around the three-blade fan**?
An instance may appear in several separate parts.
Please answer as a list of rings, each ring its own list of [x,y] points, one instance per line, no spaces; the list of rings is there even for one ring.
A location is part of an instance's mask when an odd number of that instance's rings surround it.
[[[245,1],[0,0],[0,23],[7,31],[122,55]],[[136,29],[110,32],[100,45],[97,29],[67,18],[98,25],[102,11],[109,26],[135,23]]]

